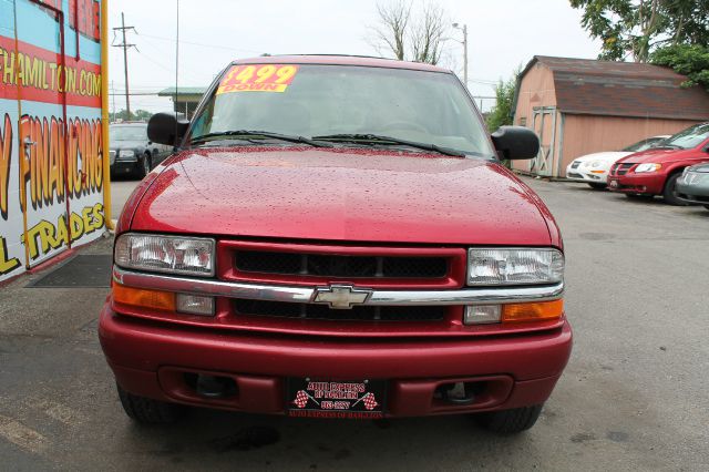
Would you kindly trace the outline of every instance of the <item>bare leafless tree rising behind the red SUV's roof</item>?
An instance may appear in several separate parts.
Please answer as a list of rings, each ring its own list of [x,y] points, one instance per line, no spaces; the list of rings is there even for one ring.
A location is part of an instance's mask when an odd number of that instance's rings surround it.
[[[448,32],[445,11],[438,4],[423,3],[412,14],[412,0],[378,3],[379,24],[371,28],[370,42],[381,55],[436,64]]]

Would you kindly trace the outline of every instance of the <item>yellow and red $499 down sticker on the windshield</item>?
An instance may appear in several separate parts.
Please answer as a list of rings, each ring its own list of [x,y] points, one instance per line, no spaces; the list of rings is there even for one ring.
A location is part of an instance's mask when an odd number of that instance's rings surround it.
[[[285,92],[298,73],[298,65],[233,65],[226,73],[217,95],[234,92]]]

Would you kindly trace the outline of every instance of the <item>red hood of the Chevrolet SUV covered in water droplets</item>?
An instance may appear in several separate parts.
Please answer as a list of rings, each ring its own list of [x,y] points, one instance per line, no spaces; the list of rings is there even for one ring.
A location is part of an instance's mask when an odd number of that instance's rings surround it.
[[[551,240],[538,197],[482,160],[249,146],[183,152],[154,172],[134,230],[421,244]]]

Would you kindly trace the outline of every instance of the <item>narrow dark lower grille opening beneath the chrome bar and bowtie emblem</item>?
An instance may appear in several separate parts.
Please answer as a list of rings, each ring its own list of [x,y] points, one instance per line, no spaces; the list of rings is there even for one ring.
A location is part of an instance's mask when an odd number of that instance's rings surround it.
[[[269,316],[331,321],[440,321],[448,312],[448,307],[444,306],[356,306],[349,310],[338,310],[327,305],[245,299],[235,300],[235,308],[237,316]]]

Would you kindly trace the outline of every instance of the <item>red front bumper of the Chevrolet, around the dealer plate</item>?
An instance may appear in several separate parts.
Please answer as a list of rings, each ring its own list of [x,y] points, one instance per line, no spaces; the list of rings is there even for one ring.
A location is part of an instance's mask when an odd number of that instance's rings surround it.
[[[388,381],[388,417],[489,411],[540,404],[572,349],[568,322],[526,336],[475,339],[336,339],[265,337],[194,329],[114,312],[106,304],[99,335],[119,384],[163,401],[258,413],[285,413],[286,378]],[[185,373],[230,377],[237,394],[199,397]],[[450,382],[476,382],[473,403],[434,398]]]

